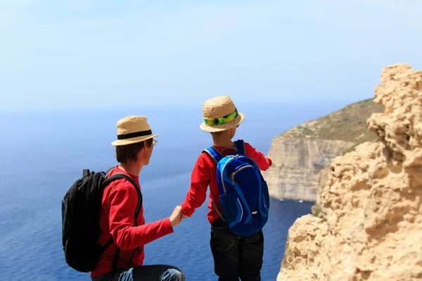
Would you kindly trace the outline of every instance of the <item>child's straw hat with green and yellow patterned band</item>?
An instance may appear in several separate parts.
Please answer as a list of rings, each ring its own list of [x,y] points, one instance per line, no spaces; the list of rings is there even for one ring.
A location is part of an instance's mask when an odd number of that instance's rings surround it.
[[[245,119],[243,113],[237,111],[229,96],[217,96],[203,104],[204,122],[200,124],[205,132],[221,132],[237,127]]]

